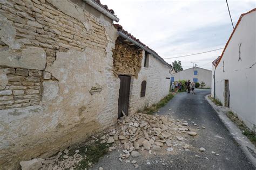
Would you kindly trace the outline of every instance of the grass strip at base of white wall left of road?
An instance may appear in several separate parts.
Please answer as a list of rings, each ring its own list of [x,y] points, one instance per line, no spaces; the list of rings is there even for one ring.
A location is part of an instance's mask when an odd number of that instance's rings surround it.
[[[153,104],[151,107],[145,107],[143,110],[138,110],[138,112],[142,112],[143,114],[153,115],[154,112],[157,112],[159,108],[164,107],[174,95],[170,93],[169,95],[162,98],[158,103]]]

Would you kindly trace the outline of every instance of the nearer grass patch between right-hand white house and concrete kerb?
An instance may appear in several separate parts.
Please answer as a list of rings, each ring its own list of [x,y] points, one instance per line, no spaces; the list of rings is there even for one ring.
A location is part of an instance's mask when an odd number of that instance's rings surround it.
[[[255,132],[248,129],[244,122],[242,122],[238,116],[234,114],[233,111],[228,111],[226,112],[226,115],[228,118],[231,119],[232,122],[234,122],[235,125],[238,126],[238,128],[242,131],[242,134],[244,134],[251,142],[253,143],[254,146],[256,146],[256,135]]]

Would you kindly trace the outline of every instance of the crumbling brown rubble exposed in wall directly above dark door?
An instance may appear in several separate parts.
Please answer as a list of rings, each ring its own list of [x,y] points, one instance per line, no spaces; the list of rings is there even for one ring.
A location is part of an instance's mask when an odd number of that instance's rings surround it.
[[[121,37],[116,40],[113,49],[113,67],[117,74],[126,74],[137,77],[141,68],[143,50]]]

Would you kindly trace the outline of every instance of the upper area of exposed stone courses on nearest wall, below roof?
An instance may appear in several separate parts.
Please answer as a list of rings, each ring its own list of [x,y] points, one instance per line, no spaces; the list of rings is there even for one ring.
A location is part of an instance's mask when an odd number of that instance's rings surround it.
[[[84,14],[86,17],[90,15],[85,12]],[[88,20],[92,26],[87,26],[86,23],[83,24],[53,8],[45,0],[3,1],[0,3],[0,15],[6,17],[15,27],[15,39],[19,46],[32,45],[45,49],[47,65],[55,61],[56,51],[71,48],[83,51],[86,47],[97,50],[105,48],[106,37],[102,26],[93,23],[93,20]],[[4,46],[3,42],[0,44]]]

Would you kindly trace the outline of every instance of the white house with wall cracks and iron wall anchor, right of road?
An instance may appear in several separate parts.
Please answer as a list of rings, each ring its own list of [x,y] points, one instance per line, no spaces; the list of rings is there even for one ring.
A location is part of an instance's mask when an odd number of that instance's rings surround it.
[[[256,124],[255,20],[256,9],[240,16],[212,70],[212,96],[234,111],[250,129]]]

